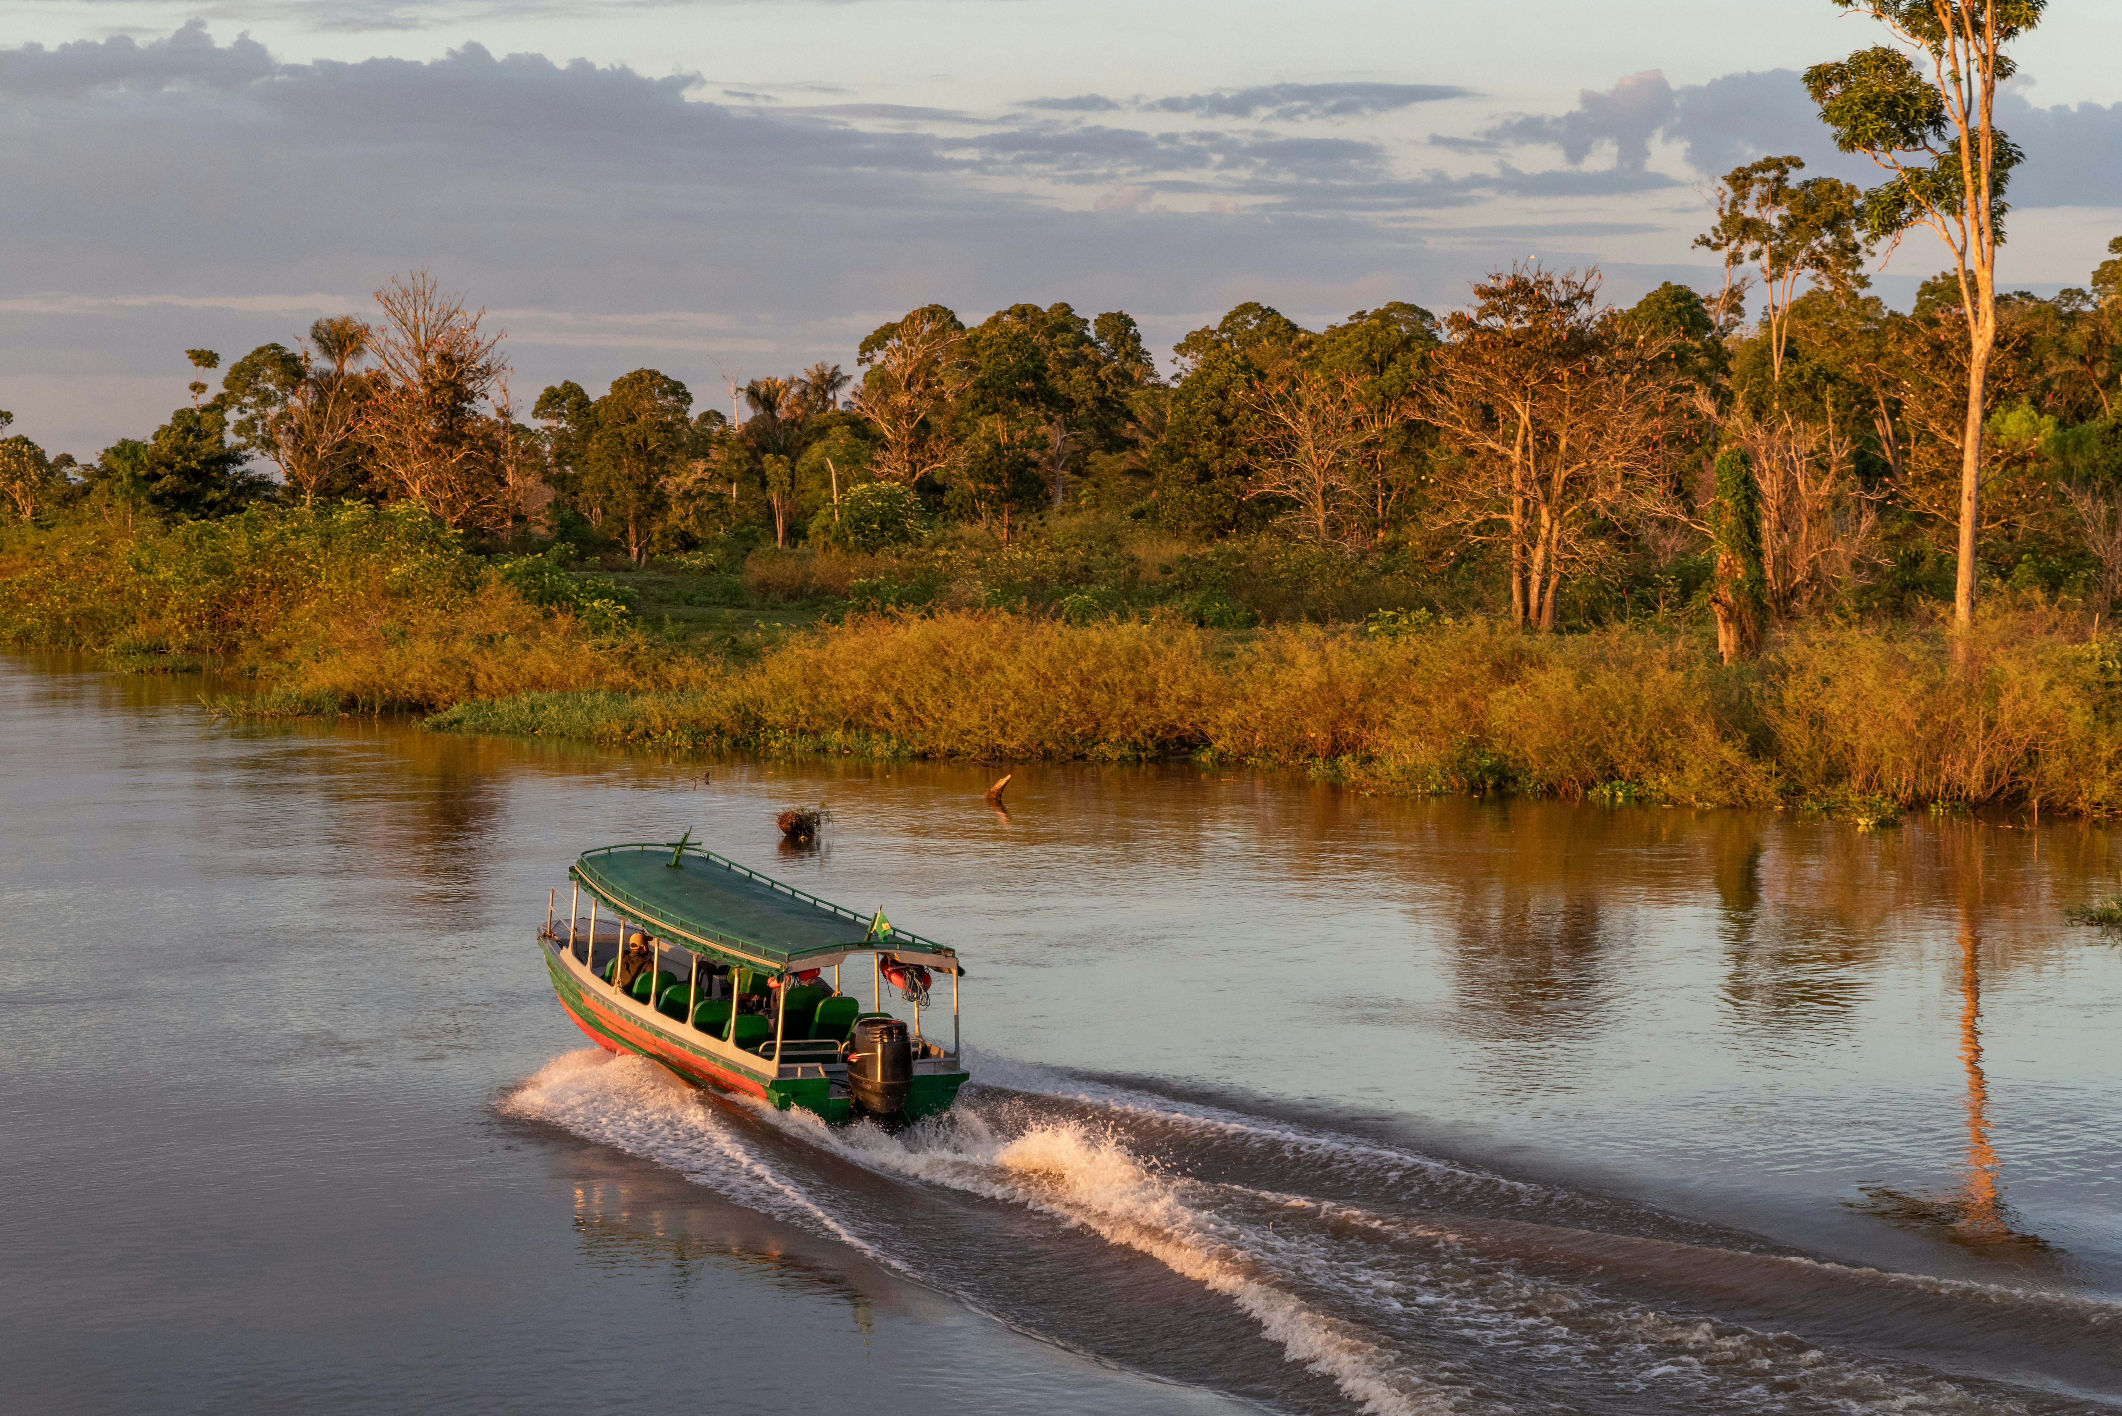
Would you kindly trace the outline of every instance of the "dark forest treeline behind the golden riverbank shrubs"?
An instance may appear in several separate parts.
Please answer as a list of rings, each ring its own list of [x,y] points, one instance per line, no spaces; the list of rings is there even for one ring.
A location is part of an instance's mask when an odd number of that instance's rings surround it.
[[[1954,565],[1963,287],[1948,272],[1889,310],[1865,291],[1855,189],[1795,166],[1727,178],[1704,244],[1734,259],[1708,295],[1611,306],[1596,272],[1524,265],[1445,318],[1386,304],[1303,329],[1241,304],[1178,344],[1169,378],[1125,312],[966,325],[925,306],[864,340],[855,376],[738,386],[741,420],[694,412],[658,369],[524,408],[501,335],[412,276],[373,321],[250,350],[93,463],[0,442],[0,486],[32,524],[412,503],[490,548],[630,565],[966,531],[1006,548],[1093,512],[1197,548],[1288,543],[1343,577],[1369,565],[1386,601],[1532,628],[1693,605],[1738,656],[1770,624],[1944,599]],[[2109,253],[2082,289],[1999,297],[1980,446],[1984,580],[2092,609],[2122,592],[2122,238]]]

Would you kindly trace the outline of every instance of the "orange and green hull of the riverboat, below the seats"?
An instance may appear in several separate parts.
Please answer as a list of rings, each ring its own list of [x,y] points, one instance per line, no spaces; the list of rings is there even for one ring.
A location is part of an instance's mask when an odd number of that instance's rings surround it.
[[[755,1095],[779,1110],[800,1106],[832,1123],[845,1123],[859,1115],[847,1095],[845,1076],[832,1076],[817,1064],[777,1066],[758,1053],[747,1053],[656,1013],[643,1002],[622,998],[556,940],[541,938],[539,949],[545,953],[545,970],[560,1006],[584,1036],[607,1053],[647,1057],[692,1087]],[[968,1072],[951,1061],[917,1064],[902,1117],[917,1119],[949,1110],[966,1078]]]

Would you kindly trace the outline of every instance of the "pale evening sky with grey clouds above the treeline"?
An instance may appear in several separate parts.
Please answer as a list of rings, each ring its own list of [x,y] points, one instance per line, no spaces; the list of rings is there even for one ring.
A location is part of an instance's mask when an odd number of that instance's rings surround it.
[[[1831,0],[0,0],[0,408],[83,461],[431,272],[516,397],[643,365],[730,405],[942,301],[1443,312],[1519,259],[1704,291],[1732,166],[1833,151]],[[2122,4],[2052,0],[1999,121],[2012,289],[2122,234]],[[1876,291],[1944,265],[1910,238]]]

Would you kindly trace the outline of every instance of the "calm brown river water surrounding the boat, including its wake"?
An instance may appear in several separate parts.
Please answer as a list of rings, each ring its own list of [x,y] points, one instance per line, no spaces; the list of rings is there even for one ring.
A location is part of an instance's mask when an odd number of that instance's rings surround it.
[[[0,662],[8,1412],[2122,1405],[2105,826],[1190,764],[995,811],[197,690]],[[961,947],[951,1117],[584,1044],[545,892],[688,826]]]

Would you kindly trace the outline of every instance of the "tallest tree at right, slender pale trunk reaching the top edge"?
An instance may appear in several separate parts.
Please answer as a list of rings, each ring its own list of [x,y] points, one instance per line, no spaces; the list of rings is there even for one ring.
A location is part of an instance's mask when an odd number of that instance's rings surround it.
[[[1927,225],[1952,251],[1967,327],[1954,620],[1976,614],[1986,376],[1997,350],[1997,246],[2005,180],[2020,151],[1997,127],[1997,87],[2016,64],[2005,47],[2041,21],[2048,0],[1833,0],[1880,21],[1897,45],[1806,70],[1806,91],[1844,153],[1891,176],[1863,197],[1874,238]]]

